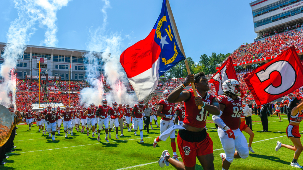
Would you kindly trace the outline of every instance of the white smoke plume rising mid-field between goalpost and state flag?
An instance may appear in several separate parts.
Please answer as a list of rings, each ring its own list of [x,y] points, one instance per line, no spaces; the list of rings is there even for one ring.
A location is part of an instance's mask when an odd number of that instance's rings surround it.
[[[102,27],[98,27],[94,30],[93,27],[89,29],[89,39],[87,44],[87,50],[91,51],[84,55],[88,60],[96,61],[97,58],[102,58],[102,62],[104,63],[104,74],[107,77],[107,84],[112,87],[110,93],[107,93],[105,96],[103,90],[98,89],[97,84],[99,81],[97,80],[100,77],[99,72],[95,71],[92,68],[98,67],[98,63],[91,62],[87,66],[87,77],[88,81],[93,84],[94,87],[84,88],[81,91],[81,103],[85,103],[88,105],[89,103],[99,104],[102,99],[106,99],[108,104],[111,105],[113,101],[122,104],[134,104],[134,98],[132,95],[127,93],[127,89],[124,84],[119,85],[117,83],[119,80],[128,83],[128,80],[125,78],[125,72],[120,64],[120,46],[123,38],[121,34],[118,32],[106,34],[106,25],[107,25],[107,12],[106,9],[110,8],[110,3],[108,0],[103,0],[105,5],[102,8],[103,13],[103,25]],[[102,53],[95,53],[93,51],[102,51]],[[93,94],[99,92],[99,94]],[[102,91],[100,93],[100,91]],[[89,93],[92,92],[92,93]],[[93,95],[92,95],[93,94]],[[99,97],[99,98],[98,98]],[[96,99],[98,98],[98,99]]]

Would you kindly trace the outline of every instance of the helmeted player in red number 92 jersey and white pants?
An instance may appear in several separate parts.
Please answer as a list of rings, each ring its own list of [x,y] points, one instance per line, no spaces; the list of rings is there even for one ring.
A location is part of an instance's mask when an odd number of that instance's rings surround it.
[[[240,116],[243,112],[240,85],[234,79],[222,83],[224,94],[217,96],[222,112],[219,116],[212,116],[213,121],[219,126],[218,136],[225,152],[220,154],[222,170],[228,170],[234,158],[246,159],[249,154],[247,140],[239,129]]]

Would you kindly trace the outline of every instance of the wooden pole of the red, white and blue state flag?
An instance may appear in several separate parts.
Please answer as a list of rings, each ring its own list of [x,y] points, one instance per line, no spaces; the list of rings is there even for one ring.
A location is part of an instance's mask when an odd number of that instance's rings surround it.
[[[168,0],[166,0],[166,7],[167,7],[167,10],[168,10],[168,12],[170,13],[170,16],[171,16],[171,18],[170,18],[171,22],[172,22],[173,25],[175,25],[175,36],[177,37],[176,40],[178,41],[179,48],[181,50],[181,53],[185,57],[185,52],[184,52],[184,49],[183,49],[183,46],[182,46],[182,43],[181,43],[181,39],[180,39],[180,36],[179,36],[177,25],[176,25],[176,22],[175,22],[175,19],[174,19],[174,15],[172,14],[172,11],[171,11]],[[185,57],[184,62],[185,62],[185,67],[186,67],[186,70],[187,70],[187,74],[191,74],[186,57]],[[194,91],[195,97],[197,97],[198,95],[197,95],[195,83],[191,83],[191,87],[192,87],[192,90]],[[200,110],[201,106],[198,106],[198,109]]]

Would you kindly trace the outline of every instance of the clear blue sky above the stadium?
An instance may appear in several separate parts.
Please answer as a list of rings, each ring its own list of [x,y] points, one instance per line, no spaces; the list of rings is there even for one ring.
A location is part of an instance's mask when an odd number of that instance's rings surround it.
[[[85,3],[83,3],[85,2]],[[199,61],[201,54],[231,53],[242,43],[256,37],[248,0],[182,1],[171,0],[170,5],[178,27],[186,57]],[[60,48],[87,50],[89,30],[102,27],[104,6],[101,0],[73,0],[57,12],[57,38]],[[118,33],[122,37],[120,51],[144,39],[160,14],[162,0],[110,1],[106,9],[105,34]],[[18,17],[14,2],[1,1],[0,42],[7,42],[6,33],[11,21]],[[46,27],[37,29],[29,45],[41,45]]]

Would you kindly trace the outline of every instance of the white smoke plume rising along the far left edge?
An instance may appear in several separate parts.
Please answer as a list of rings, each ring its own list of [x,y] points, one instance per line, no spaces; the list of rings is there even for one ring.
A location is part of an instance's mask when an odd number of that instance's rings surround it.
[[[0,67],[0,76],[4,82],[0,84],[0,103],[8,105],[11,103],[8,92],[12,91],[12,81],[10,70],[16,67],[19,56],[22,56],[26,50],[25,44],[29,38],[35,33],[34,25],[37,21],[47,25],[48,29],[45,33],[45,41],[47,45],[52,45],[57,42],[56,32],[58,31],[55,21],[56,11],[67,5],[68,0],[14,0],[15,8],[18,11],[18,18],[11,22],[7,33],[7,45],[4,48],[3,64]],[[15,97],[13,94],[13,103]]]

